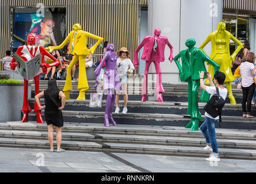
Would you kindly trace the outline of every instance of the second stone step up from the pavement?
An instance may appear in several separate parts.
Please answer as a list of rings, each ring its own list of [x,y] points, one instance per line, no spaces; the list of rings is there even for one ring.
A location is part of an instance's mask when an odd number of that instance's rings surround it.
[[[38,131],[12,131],[0,130],[0,137],[12,139],[47,140],[48,132]],[[54,133],[55,137],[55,133]],[[110,135],[92,133],[62,132],[62,140],[88,141],[102,143],[129,143],[129,144],[153,144],[153,145],[178,145],[187,147],[204,147],[205,139],[192,137],[164,137],[164,136],[139,136],[139,135]],[[218,148],[232,148],[244,150],[256,150],[255,140],[228,140],[218,139]]]

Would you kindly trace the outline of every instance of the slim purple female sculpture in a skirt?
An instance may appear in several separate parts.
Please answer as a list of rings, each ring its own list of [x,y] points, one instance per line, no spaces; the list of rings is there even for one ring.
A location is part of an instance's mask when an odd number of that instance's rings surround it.
[[[116,121],[112,117],[112,111],[114,108],[114,102],[116,101],[116,91],[121,91],[121,82],[116,73],[117,53],[114,52],[114,44],[107,44],[106,53],[102,59],[102,62],[96,68],[94,74],[96,75],[95,85],[98,86],[98,75],[101,73],[103,64],[106,63],[104,77],[103,77],[103,91],[107,94],[106,109],[104,115],[104,126],[110,127],[109,119],[113,125],[116,126]]]

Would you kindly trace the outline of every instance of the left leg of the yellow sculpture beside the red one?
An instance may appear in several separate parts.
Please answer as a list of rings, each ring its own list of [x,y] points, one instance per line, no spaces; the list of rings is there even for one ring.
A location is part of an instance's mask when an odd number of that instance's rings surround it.
[[[65,82],[64,89],[63,89],[66,99],[70,98],[69,94],[72,90],[71,71],[72,71],[73,66],[75,66],[76,62],[78,61],[78,58],[79,57],[77,55],[73,56],[73,59],[68,66],[68,71],[66,72],[66,82]]]

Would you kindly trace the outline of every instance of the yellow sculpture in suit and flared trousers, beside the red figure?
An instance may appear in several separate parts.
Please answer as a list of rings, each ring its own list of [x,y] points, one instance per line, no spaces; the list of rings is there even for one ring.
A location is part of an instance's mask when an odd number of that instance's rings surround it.
[[[78,86],[77,89],[79,89],[79,96],[77,97],[77,100],[85,100],[86,96],[85,93],[89,89],[88,82],[87,82],[87,76],[86,76],[86,57],[87,55],[90,55],[90,53],[94,53],[95,49],[98,47],[99,43],[103,40],[102,37],[95,36],[94,34],[85,32],[81,29],[80,24],[73,25],[72,32],[68,34],[66,39],[56,47],[47,47],[46,49],[49,50],[49,52],[52,52],[55,49],[61,49],[63,48],[66,43],[69,41],[69,53],[71,53],[73,56],[73,59],[71,63],[68,66],[68,71],[66,74],[66,83],[64,86],[64,94],[66,95],[66,99],[69,99],[70,91],[72,90],[72,81],[71,81],[71,70],[73,66],[76,64],[76,62],[79,60],[79,79],[78,79]],[[90,37],[92,39],[98,40],[97,43],[91,47],[90,49],[87,48],[87,38]]]

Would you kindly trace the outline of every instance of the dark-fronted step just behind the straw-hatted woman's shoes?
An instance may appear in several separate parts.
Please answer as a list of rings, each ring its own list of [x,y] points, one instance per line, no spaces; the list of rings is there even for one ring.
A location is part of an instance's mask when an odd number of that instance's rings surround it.
[[[32,109],[34,109],[35,99],[29,99],[29,104]],[[41,103],[44,104],[44,99],[41,99]],[[66,100],[64,110],[74,110],[74,111],[95,111],[95,112],[104,112],[106,106],[106,100],[102,101],[102,108],[89,108],[90,100],[87,99],[86,101],[77,101],[75,99],[68,99]],[[121,112],[123,110],[124,101],[120,100],[120,109]],[[201,114],[205,113],[203,107],[206,103],[199,102],[199,110]],[[153,101],[128,101],[128,112],[129,113],[161,113],[161,114],[186,114],[188,108],[187,102],[153,102]],[[115,110],[115,108],[114,108]],[[113,110],[113,111],[114,111]],[[120,112],[120,113],[121,113]],[[242,116],[242,104],[231,105],[225,104],[224,108],[222,109],[222,116]],[[256,116],[256,106],[251,106],[251,113],[253,116]]]

